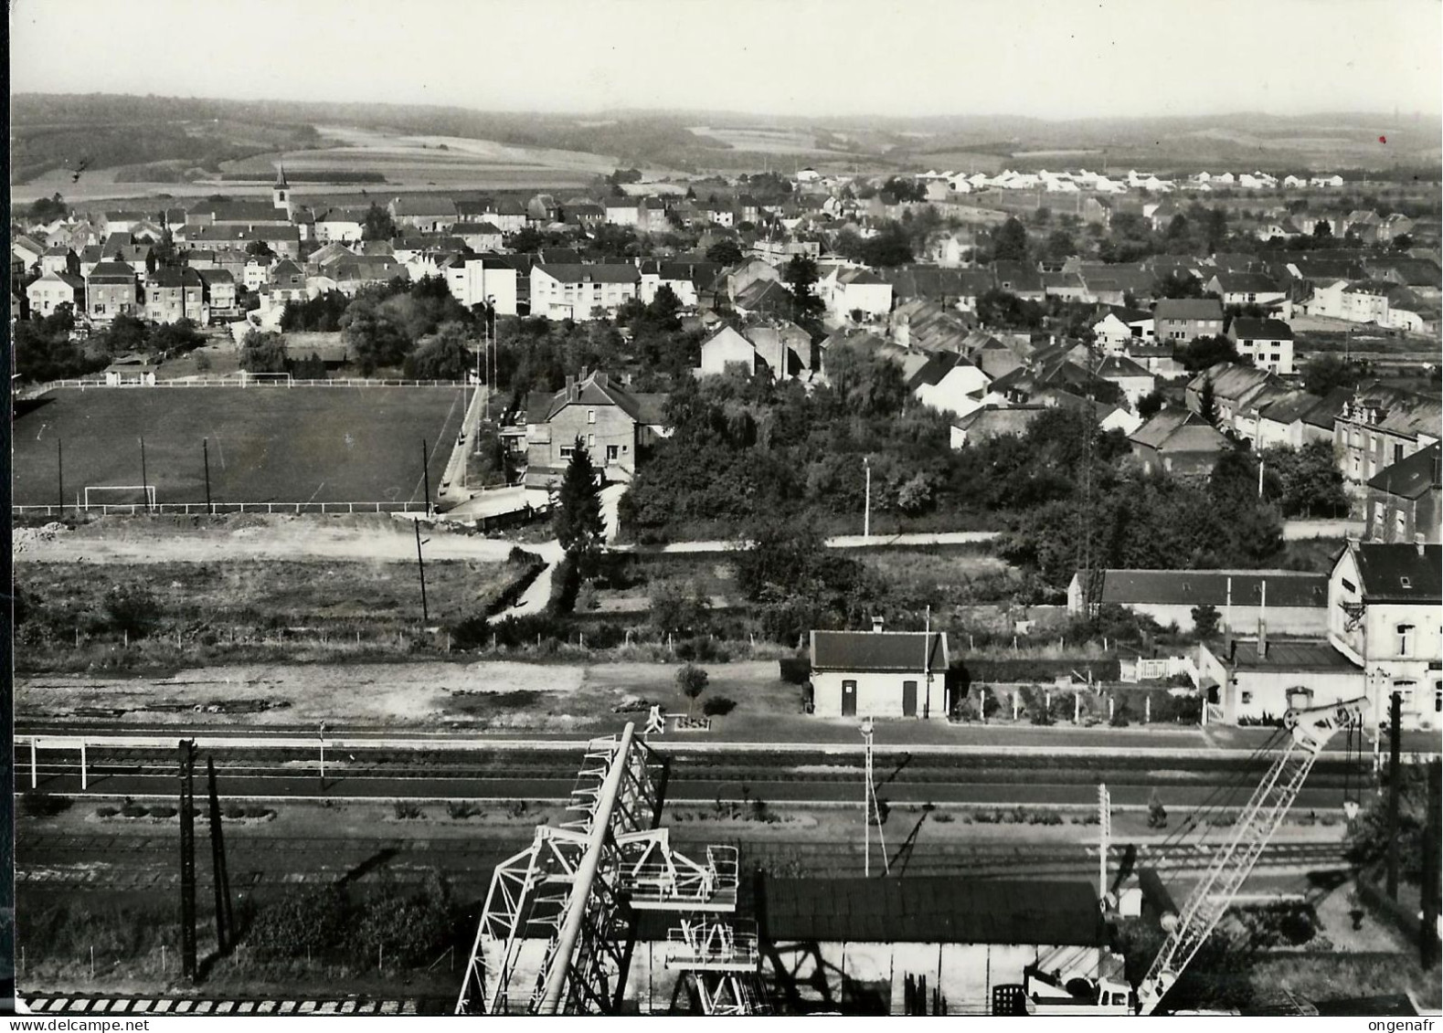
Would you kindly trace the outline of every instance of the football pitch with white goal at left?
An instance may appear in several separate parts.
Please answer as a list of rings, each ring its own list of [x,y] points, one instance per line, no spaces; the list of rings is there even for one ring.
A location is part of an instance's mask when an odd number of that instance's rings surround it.
[[[460,388],[63,388],[16,417],[12,501],[56,501],[58,440],[66,505],[140,485],[144,437],[157,504],[205,502],[202,439],[215,502],[421,502],[421,441],[434,498],[460,420]]]

